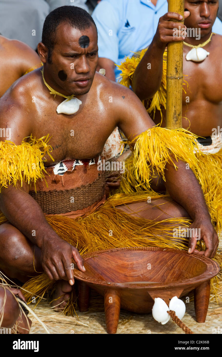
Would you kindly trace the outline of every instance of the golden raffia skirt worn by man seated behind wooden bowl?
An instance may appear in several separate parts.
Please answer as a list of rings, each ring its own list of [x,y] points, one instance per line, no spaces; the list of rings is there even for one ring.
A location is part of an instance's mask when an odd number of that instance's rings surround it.
[[[175,241],[173,228],[189,227],[191,220],[186,218],[170,218],[162,220],[162,208],[160,207],[160,221],[149,221],[137,218],[118,209],[118,205],[144,202],[151,197],[151,202],[158,206],[158,199],[165,198],[171,201],[167,195],[159,195],[151,190],[134,192],[131,195],[124,193],[115,194],[94,213],[85,218],[72,219],[64,216],[47,216],[46,219],[53,230],[66,242],[77,247],[82,254],[119,247],[163,247],[187,250],[187,238]],[[0,224],[7,221],[0,215]],[[198,241],[198,249],[203,250],[204,245]],[[222,267],[222,255],[217,254],[215,261]],[[220,276],[211,281],[211,300],[222,302],[220,289]],[[56,282],[50,281],[45,273],[33,277],[22,286],[27,303],[36,297],[37,303],[48,294],[49,302],[53,300]],[[38,296],[38,297],[37,297]],[[73,292],[73,296],[75,293]],[[71,298],[65,307],[64,313],[73,315],[76,305]]]

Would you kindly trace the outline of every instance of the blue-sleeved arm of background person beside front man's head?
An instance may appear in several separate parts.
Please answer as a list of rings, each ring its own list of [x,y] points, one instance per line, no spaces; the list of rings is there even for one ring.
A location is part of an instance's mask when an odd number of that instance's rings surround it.
[[[117,1],[102,0],[93,11],[93,20],[98,30],[99,61],[97,71],[104,68],[105,76],[115,81],[115,63],[119,57],[119,29],[120,14]]]

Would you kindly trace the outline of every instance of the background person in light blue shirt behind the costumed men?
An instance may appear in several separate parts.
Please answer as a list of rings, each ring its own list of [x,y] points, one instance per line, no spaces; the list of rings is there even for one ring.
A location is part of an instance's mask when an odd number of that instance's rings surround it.
[[[92,14],[98,29],[97,70],[104,68],[107,78],[117,80],[120,71],[115,64],[151,43],[167,6],[167,0],[100,1]],[[212,31],[222,35],[222,22],[218,17]]]

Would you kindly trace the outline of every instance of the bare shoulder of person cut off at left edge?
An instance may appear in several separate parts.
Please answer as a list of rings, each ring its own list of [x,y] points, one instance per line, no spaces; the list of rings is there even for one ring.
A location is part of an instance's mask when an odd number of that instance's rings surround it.
[[[12,83],[35,66],[41,66],[41,61],[31,47],[0,35],[0,97]]]

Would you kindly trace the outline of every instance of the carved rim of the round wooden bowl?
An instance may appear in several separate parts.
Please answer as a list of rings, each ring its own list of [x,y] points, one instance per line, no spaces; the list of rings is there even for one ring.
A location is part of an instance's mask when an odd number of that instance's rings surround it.
[[[74,278],[76,278],[77,280],[83,281],[87,284],[91,284],[91,285],[97,285],[97,286],[103,286],[103,287],[107,287],[107,288],[113,288],[115,287],[115,289],[118,288],[136,288],[136,289],[144,289],[144,288],[149,288],[149,290],[156,290],[157,288],[159,290],[165,289],[165,288],[177,288],[177,287],[188,287],[189,285],[199,285],[198,283],[203,283],[207,280],[210,280],[211,278],[215,277],[219,272],[220,272],[220,267],[218,265],[217,262],[213,261],[211,258],[207,258],[203,255],[199,255],[197,253],[192,253],[192,254],[188,254],[187,251],[184,250],[178,250],[178,249],[174,249],[174,248],[160,248],[160,247],[129,247],[129,248],[110,248],[110,249],[105,249],[105,250],[100,250],[97,252],[91,252],[91,253],[86,253],[84,255],[82,255],[82,258],[84,260],[88,260],[89,258],[98,256],[98,255],[103,255],[106,253],[111,253],[111,252],[117,252],[117,251],[137,251],[137,250],[141,250],[141,251],[167,251],[167,252],[174,252],[176,254],[179,255],[186,255],[189,256],[191,258],[197,258],[198,260],[202,261],[203,263],[206,264],[206,271],[203,272],[201,275],[198,275],[196,277],[193,278],[189,278],[189,279],[184,279],[181,282],[169,282],[169,283],[113,283],[110,282],[108,283],[107,281],[103,281],[103,280],[99,280],[99,279],[94,279],[91,278],[87,275],[85,275],[85,273],[83,273],[82,271],[78,270],[78,267],[76,265],[76,263],[74,263],[74,270],[73,270],[73,274],[74,274]]]

